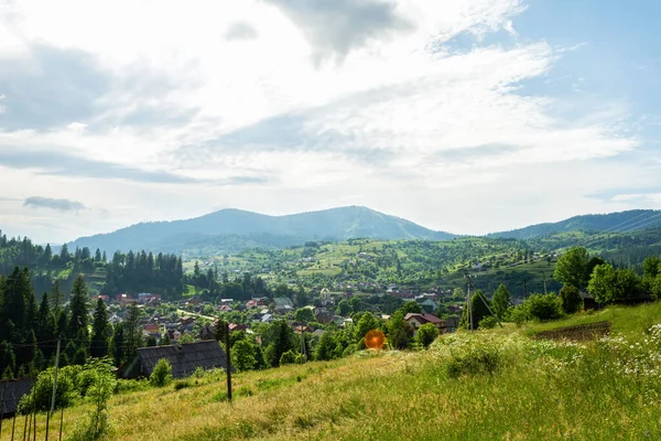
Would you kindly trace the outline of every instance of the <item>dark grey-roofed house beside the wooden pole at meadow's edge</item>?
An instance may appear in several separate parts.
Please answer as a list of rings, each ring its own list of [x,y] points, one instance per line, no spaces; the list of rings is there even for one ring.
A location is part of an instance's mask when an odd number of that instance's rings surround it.
[[[182,345],[141,347],[136,358],[122,369],[124,378],[148,377],[159,359],[164,358],[172,366],[172,376],[183,378],[197,368],[227,368],[227,355],[215,340],[206,340]],[[234,368],[232,368],[234,370]]]

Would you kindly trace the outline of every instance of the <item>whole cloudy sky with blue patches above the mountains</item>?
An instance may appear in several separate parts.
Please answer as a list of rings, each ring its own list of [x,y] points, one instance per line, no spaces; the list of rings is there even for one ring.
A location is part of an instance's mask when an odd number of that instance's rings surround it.
[[[0,0],[0,229],[661,206],[661,2]]]

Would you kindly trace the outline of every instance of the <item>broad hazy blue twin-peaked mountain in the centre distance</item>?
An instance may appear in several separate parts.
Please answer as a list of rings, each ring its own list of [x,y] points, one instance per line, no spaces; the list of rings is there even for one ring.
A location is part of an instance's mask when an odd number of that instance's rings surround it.
[[[360,206],[286,216],[223,209],[193,219],[142,223],[115,233],[83,237],[71,247],[100,248],[109,252],[129,249],[181,252],[212,243],[214,251],[229,252],[356,237],[442,240],[454,236]]]

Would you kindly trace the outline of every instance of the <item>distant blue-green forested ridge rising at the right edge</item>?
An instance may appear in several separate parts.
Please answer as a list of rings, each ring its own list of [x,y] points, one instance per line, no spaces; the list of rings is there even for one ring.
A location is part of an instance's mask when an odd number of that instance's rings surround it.
[[[556,223],[531,225],[510,232],[492,233],[487,236],[494,238],[534,239],[566,232],[626,233],[658,226],[661,226],[661,211],[631,209],[619,213],[574,216]]]

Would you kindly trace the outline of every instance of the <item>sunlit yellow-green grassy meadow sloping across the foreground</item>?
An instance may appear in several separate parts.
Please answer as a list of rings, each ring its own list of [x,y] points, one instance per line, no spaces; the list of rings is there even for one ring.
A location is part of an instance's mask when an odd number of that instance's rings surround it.
[[[613,322],[613,335],[599,343],[529,338],[603,320]],[[661,326],[649,331],[658,322],[661,303],[611,308],[446,335],[429,351],[241,373],[232,404],[223,373],[191,378],[180,390],[144,386],[110,400],[109,439],[659,439]],[[65,434],[85,410],[65,411]],[[43,422],[40,415],[41,439]],[[23,421],[17,426],[22,432]],[[9,440],[4,429],[1,439]]]

